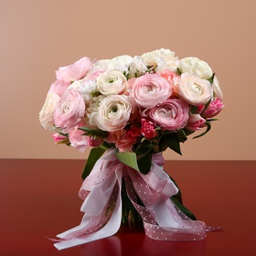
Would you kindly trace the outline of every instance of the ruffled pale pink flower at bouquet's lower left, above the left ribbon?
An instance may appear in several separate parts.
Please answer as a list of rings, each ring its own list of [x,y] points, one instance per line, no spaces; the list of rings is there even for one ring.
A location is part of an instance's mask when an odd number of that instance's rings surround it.
[[[78,149],[82,153],[88,146],[88,139],[86,135],[82,135],[84,131],[79,129],[81,126],[82,123],[79,123],[69,131],[69,142],[72,147]]]

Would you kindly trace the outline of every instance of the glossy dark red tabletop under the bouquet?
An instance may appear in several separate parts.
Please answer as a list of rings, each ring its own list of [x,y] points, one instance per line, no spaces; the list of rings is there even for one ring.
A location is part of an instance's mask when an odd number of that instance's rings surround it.
[[[0,255],[256,255],[256,162],[166,161],[187,208],[221,230],[206,240],[150,240],[144,231],[58,251],[51,240],[80,224],[85,161],[0,159]]]

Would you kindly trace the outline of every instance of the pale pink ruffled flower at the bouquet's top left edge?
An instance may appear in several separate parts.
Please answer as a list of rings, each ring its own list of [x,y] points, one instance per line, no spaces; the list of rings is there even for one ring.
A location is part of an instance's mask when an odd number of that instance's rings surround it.
[[[87,57],[79,59],[75,63],[60,67],[56,71],[57,80],[74,81],[80,80],[86,76],[91,69],[91,60]]]

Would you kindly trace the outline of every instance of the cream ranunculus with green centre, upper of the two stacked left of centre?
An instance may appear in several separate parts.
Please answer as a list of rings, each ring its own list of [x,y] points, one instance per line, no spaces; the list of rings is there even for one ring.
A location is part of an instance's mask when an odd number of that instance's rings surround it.
[[[107,70],[97,78],[98,91],[108,96],[122,94],[128,88],[128,83],[123,73],[117,70]]]

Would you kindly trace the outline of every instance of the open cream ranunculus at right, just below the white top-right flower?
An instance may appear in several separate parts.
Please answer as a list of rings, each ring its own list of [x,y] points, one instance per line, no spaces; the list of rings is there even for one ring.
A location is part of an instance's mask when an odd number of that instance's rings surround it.
[[[197,75],[183,73],[179,83],[179,96],[193,106],[206,104],[212,98],[210,82]]]

